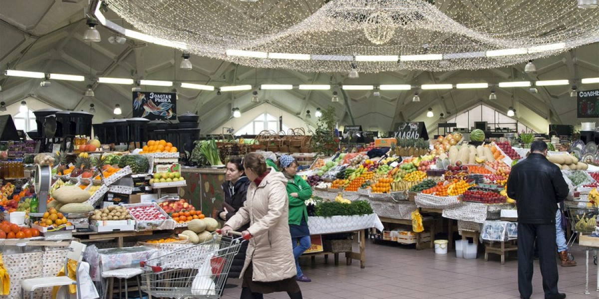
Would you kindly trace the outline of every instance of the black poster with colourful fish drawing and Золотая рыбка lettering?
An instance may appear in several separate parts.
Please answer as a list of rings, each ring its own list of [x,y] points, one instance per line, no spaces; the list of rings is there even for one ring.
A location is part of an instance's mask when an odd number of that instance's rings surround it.
[[[149,120],[176,120],[176,108],[176,93],[133,92],[133,117],[143,117]]]

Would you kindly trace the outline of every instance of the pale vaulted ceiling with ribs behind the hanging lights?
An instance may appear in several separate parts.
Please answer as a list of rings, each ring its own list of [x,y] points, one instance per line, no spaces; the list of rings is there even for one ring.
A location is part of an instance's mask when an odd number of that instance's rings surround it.
[[[238,1],[238,0],[226,0]],[[264,6],[263,18],[268,18],[270,8],[277,0],[259,0]],[[458,1],[458,0],[455,0]],[[216,1],[218,2],[218,1]],[[297,1],[302,9],[316,11],[327,1]],[[464,1],[462,1],[464,2]],[[467,0],[471,4],[474,0]],[[503,2],[503,1],[502,1]],[[574,1],[575,2],[575,1]],[[86,30],[87,0],[0,0],[0,70],[53,72],[85,75],[83,82],[53,81],[51,87],[40,87],[38,79],[6,77],[0,75],[0,100],[14,105],[30,94],[48,105],[60,109],[88,110],[94,103],[95,122],[111,115],[116,103],[123,108],[122,117],[131,117],[131,87],[117,84],[99,84],[89,77],[119,77],[150,80],[174,80],[214,86],[238,84],[438,84],[476,83],[497,84],[500,81],[537,81],[599,77],[599,44],[585,45],[558,56],[534,61],[537,72],[524,72],[524,63],[479,71],[397,71],[360,74],[358,79],[347,78],[347,73],[305,73],[288,69],[254,69],[223,60],[192,56],[191,71],[179,69],[181,51],[161,45],[148,44],[128,38],[125,44],[110,44],[109,36],[115,33],[98,26],[101,42],[83,41]],[[274,13],[274,12],[271,12]],[[277,14],[280,14],[277,13]],[[110,10],[106,13],[112,22],[131,28]],[[226,20],[222,20],[226,22]],[[91,58],[90,58],[91,51]],[[2,74],[0,72],[0,74]],[[95,98],[84,97],[88,84],[93,84]],[[599,84],[576,84],[579,90],[599,89]],[[197,112],[203,132],[212,132],[223,126],[231,117],[231,108],[238,106],[248,111],[256,106],[250,98],[252,90],[223,92],[183,89],[179,92],[177,112]],[[485,103],[500,111],[514,106],[516,117],[527,126],[546,132],[545,124],[531,123],[524,111],[534,112],[548,123],[578,124],[576,100],[569,95],[570,86],[537,87],[539,93],[528,89],[502,89],[495,87],[498,99],[489,101],[491,89],[425,90],[420,91],[421,102],[412,102],[415,89],[408,91],[380,91],[375,97],[371,90],[335,89],[340,94],[339,103],[331,103],[332,90],[259,91],[261,101],[303,118],[305,111],[329,105],[337,107],[341,124],[361,124],[365,128],[378,127],[391,130],[400,121],[423,120],[429,129],[435,127],[437,117],[427,119],[429,107],[435,115],[444,112],[453,115],[478,103]],[[144,87],[144,90],[169,91],[172,87]],[[314,113],[314,112],[312,112]],[[314,121],[314,118],[311,119]]]

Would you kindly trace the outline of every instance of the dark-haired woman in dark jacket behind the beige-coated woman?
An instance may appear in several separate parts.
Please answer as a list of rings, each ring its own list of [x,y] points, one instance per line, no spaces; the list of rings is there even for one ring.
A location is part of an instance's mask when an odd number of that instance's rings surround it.
[[[244,173],[241,158],[235,157],[229,160],[229,163],[226,164],[225,179],[226,181],[221,185],[225,193],[225,200],[223,202],[223,209],[219,212],[219,218],[226,222],[237,213],[237,210],[243,207],[243,203],[246,202],[247,187],[250,185],[250,181]],[[249,223],[241,227],[238,231],[247,230],[248,227],[250,227]],[[246,261],[246,249],[247,242],[241,243],[239,253],[235,255],[231,264],[229,277],[239,277],[241,269],[243,269],[243,264]]]

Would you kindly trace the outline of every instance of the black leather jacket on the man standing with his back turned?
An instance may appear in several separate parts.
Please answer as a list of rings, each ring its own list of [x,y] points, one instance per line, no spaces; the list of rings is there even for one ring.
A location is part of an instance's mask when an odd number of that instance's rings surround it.
[[[559,167],[537,153],[512,167],[507,179],[507,195],[516,200],[518,223],[523,224],[555,224],[557,203],[568,191]]]

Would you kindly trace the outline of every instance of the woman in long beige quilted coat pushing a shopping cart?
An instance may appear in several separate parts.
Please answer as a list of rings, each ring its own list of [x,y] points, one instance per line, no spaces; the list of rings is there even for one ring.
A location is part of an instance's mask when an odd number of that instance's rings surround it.
[[[252,238],[241,270],[241,299],[271,292],[287,292],[289,298],[301,299],[289,234],[287,179],[280,172],[267,169],[265,158],[255,152],[244,157],[243,165],[247,178],[252,181],[247,189],[247,199],[243,208],[222,228],[222,233],[226,234],[250,223],[250,227],[242,232]]]

